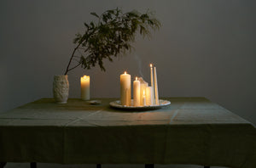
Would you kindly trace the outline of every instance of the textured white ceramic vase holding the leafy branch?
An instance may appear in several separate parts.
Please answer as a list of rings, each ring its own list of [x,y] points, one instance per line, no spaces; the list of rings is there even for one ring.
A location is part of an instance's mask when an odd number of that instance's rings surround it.
[[[67,104],[69,83],[66,76],[55,76],[53,81],[53,95],[56,103]]]

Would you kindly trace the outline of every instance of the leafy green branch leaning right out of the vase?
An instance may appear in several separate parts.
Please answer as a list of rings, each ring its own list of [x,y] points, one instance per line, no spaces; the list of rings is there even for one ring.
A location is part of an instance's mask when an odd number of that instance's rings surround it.
[[[142,36],[150,36],[150,29],[155,31],[160,28],[160,21],[154,19],[152,14],[140,14],[136,10],[123,14],[116,8],[101,15],[95,12],[90,14],[96,17],[97,22],[84,23],[84,34],[76,34],[73,40],[78,46],[74,48],[70,59],[71,62],[78,50],[78,62],[84,69],[90,69],[91,66],[98,64],[101,70],[105,71],[103,59],[113,61],[112,57],[131,50],[131,42],[134,42],[137,32]],[[65,74],[77,67],[68,69],[70,62]]]

